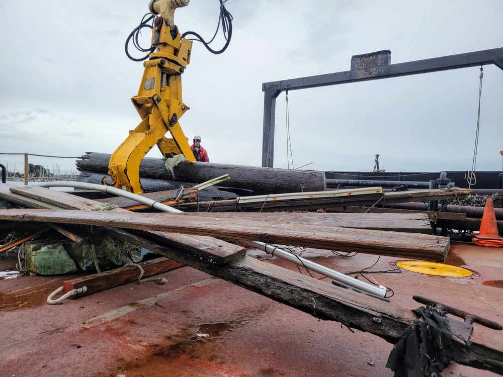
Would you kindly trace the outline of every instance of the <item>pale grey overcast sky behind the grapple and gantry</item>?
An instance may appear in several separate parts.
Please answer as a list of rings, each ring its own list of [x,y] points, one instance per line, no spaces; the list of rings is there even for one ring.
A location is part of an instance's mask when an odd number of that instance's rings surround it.
[[[140,121],[130,98],[141,62],[124,43],[148,0],[0,4],[0,151],[112,153]],[[175,23],[210,39],[218,0],[192,0]],[[351,56],[391,50],[401,63],[503,47],[503,1],[237,0],[229,48],[194,42],[183,74],[191,110],[180,124],[202,136],[210,160],[260,166],[262,83],[350,69]],[[145,40],[150,39],[145,30]],[[213,45],[219,49],[220,38]],[[134,56],[141,56],[132,50]],[[479,67],[289,92],[294,166],[371,171],[469,170]],[[284,93],[277,99],[275,167],[287,167]],[[484,66],[477,170],[501,170],[503,70]],[[153,149],[148,156],[158,157]],[[74,160],[31,157],[52,168]],[[0,155],[0,163],[22,156]],[[291,164],[290,164],[291,167]]]

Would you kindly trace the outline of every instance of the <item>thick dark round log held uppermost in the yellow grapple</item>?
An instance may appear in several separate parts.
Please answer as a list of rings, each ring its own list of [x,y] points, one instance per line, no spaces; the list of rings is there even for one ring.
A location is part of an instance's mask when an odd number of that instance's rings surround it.
[[[107,174],[110,154],[87,152],[76,161],[79,171]],[[145,157],[140,164],[143,178],[176,179],[202,183],[229,174],[225,187],[235,187],[254,192],[254,195],[325,191],[325,173],[313,170],[276,169],[270,167],[215,164],[185,161],[174,167],[175,177],[166,170],[164,159]]]

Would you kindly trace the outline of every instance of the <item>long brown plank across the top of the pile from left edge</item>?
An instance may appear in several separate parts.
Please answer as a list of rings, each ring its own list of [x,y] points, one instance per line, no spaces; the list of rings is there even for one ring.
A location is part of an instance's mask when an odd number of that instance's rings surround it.
[[[0,210],[0,220],[43,221],[83,225],[113,226],[124,229],[157,230],[229,237],[279,245],[359,252],[443,261],[449,251],[449,238],[417,233],[320,227],[274,222],[234,221],[167,213],[113,213],[101,211]]]

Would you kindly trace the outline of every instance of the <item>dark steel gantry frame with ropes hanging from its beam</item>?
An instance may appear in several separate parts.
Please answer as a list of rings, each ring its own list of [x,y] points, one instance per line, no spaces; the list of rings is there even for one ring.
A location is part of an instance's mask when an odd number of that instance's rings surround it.
[[[349,71],[263,83],[264,135],[262,139],[262,166],[273,167],[276,98],[278,98],[282,91],[445,71],[487,64],[494,64],[503,69],[503,47],[398,64],[390,64],[390,61],[390,50],[371,52],[369,54],[353,56],[351,58],[351,70]]]

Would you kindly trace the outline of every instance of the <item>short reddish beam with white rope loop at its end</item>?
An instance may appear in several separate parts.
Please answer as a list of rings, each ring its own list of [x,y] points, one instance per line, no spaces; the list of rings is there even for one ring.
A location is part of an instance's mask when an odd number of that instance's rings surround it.
[[[143,268],[142,278],[157,275],[166,271],[171,271],[185,265],[183,263],[165,257],[160,257],[137,264],[139,264]],[[87,287],[86,292],[77,293],[73,296],[68,297],[72,300],[78,299],[82,296],[92,295],[96,292],[105,291],[110,288],[122,286],[132,281],[136,281],[139,275],[139,268],[124,266],[72,280],[66,280],[63,281],[63,294],[66,294],[74,289],[82,288],[84,286]]]

